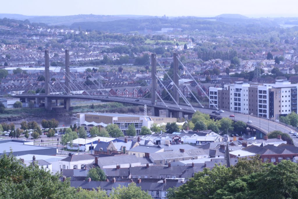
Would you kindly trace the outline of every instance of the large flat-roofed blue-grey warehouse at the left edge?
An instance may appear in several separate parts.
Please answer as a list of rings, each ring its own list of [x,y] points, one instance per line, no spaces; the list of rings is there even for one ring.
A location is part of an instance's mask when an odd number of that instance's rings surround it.
[[[49,146],[36,146],[31,141],[23,140],[1,140],[0,155],[9,154],[10,150],[14,156],[20,155],[56,155],[57,148]]]

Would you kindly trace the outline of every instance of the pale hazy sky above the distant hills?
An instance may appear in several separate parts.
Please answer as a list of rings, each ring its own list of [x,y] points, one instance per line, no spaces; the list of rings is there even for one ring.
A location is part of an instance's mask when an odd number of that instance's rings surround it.
[[[249,17],[296,16],[298,0],[1,0],[0,13],[30,16],[152,15]]]

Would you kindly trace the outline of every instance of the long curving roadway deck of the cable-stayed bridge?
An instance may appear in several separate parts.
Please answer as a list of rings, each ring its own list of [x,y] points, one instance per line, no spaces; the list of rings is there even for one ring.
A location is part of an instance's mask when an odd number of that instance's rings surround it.
[[[151,105],[151,99],[139,99],[139,101],[135,101],[136,98],[127,98],[127,97],[114,97],[114,96],[103,96],[103,95],[14,95],[13,97],[16,98],[29,98],[29,99],[34,99],[39,98],[40,100],[48,97],[50,99],[66,99],[66,98],[76,98],[76,99],[91,99],[91,100],[100,100],[100,101],[114,101],[114,102],[121,102],[121,103],[130,103],[130,104],[136,104],[136,105],[147,105],[152,107]],[[165,105],[158,101],[157,104],[154,106],[155,108],[158,109],[168,109],[170,111],[176,111],[176,112],[183,112],[184,114],[193,114],[194,110],[187,105],[180,105],[180,108],[177,107],[176,104],[173,103],[166,103],[167,107]],[[193,106],[194,107],[194,106]],[[231,118],[234,121],[243,121],[247,123],[249,120],[252,121],[251,124],[248,124],[249,127],[253,127],[254,129],[260,130],[261,132],[267,134],[268,130],[269,132],[274,131],[274,130],[280,130],[282,132],[288,133],[289,131],[292,130],[290,127],[286,127],[283,124],[279,124],[277,122],[263,119],[263,118],[257,118],[255,116],[249,116],[249,115],[244,115],[240,113],[234,113],[234,112],[229,112],[225,111],[221,113],[221,115],[215,115],[212,113],[214,109],[209,109],[209,108],[199,108],[199,107],[194,107],[195,110],[198,110],[203,113],[207,113],[212,116],[217,116],[219,118]],[[229,117],[230,115],[235,115],[235,117]],[[295,130],[293,130],[295,131]],[[293,134],[289,134],[291,137]],[[293,137],[294,145],[298,146],[298,138]]]

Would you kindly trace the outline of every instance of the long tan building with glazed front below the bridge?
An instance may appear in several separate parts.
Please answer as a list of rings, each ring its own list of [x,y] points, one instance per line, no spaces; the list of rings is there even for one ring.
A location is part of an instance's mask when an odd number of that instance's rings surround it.
[[[124,134],[128,126],[134,124],[137,135],[141,132],[142,126],[150,128],[152,124],[177,122],[176,118],[97,112],[78,113],[77,118],[80,120],[80,125],[85,126],[87,130],[94,126],[106,127],[108,124],[117,124]]]

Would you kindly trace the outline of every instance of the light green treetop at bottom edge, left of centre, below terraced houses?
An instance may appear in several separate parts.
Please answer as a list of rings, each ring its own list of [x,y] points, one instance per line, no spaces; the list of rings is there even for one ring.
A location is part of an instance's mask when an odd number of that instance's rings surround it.
[[[145,191],[142,191],[141,187],[136,186],[136,183],[130,183],[127,187],[118,186],[117,189],[113,189],[111,192],[111,199],[152,199],[152,197]]]

